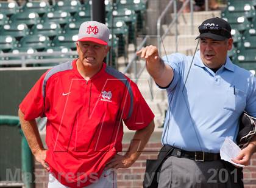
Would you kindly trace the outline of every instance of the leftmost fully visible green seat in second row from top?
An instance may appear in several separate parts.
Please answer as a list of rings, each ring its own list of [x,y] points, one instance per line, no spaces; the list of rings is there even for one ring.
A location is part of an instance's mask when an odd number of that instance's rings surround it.
[[[35,24],[39,24],[41,21],[37,12],[22,12],[12,15],[10,18],[10,24],[26,24],[28,27],[32,27]]]

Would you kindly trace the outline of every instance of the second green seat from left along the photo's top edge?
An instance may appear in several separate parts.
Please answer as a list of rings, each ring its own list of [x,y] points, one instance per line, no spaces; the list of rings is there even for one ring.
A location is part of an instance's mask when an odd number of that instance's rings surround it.
[[[21,8],[21,12],[37,12],[42,16],[45,13],[51,12],[52,8],[48,1],[30,1],[26,2]]]

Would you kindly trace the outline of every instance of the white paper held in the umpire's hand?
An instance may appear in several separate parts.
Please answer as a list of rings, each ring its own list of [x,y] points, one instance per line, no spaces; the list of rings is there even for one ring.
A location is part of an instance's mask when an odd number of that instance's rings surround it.
[[[221,159],[229,163],[235,164],[235,166],[244,167],[244,165],[237,164],[231,160],[233,158],[236,158],[240,151],[240,147],[238,147],[229,137],[226,137],[220,149]]]

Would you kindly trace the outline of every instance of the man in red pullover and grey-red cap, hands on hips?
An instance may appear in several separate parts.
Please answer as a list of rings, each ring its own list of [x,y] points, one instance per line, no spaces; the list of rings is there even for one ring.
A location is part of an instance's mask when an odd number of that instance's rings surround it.
[[[80,25],[78,59],[44,73],[20,104],[21,128],[35,159],[49,171],[48,187],[116,187],[112,169],[130,167],[154,130],[154,114],[136,84],[103,61],[108,28]],[[46,144],[35,118],[46,116]],[[125,155],[123,122],[136,130]]]

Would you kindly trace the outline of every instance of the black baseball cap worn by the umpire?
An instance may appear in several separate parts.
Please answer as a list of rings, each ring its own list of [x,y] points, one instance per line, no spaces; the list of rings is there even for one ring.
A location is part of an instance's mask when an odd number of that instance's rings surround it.
[[[222,31],[222,32],[216,33],[215,31],[213,31],[213,30],[211,31],[209,29],[209,30],[207,30],[207,32],[201,32],[201,34],[199,36],[197,36],[196,39],[207,37],[207,38],[215,39],[217,41],[223,41],[225,39],[232,37],[231,27],[230,27],[229,23],[227,21],[225,21],[224,19],[221,19],[218,17],[210,18],[210,19],[207,19],[204,22],[202,22],[202,24],[199,27],[201,27],[202,25],[205,25],[208,27],[217,26],[219,28],[224,29],[224,32]],[[199,29],[199,32],[200,32],[200,29]]]

